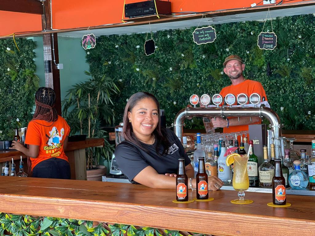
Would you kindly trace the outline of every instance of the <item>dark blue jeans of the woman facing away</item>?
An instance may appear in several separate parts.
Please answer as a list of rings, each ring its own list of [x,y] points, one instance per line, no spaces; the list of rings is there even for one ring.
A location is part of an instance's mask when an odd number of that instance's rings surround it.
[[[34,167],[32,177],[70,179],[69,162],[55,157],[43,160]]]

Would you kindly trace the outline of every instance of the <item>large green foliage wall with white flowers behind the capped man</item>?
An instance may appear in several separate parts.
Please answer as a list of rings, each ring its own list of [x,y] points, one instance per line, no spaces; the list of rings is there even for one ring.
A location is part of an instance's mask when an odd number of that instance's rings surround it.
[[[313,15],[301,15],[273,20],[273,31],[278,36],[273,51],[257,47],[263,22],[248,21],[212,25],[217,38],[203,45],[193,43],[192,32],[196,27],[158,31],[153,34],[157,48],[151,56],[144,54],[146,34],[102,36],[86,59],[92,74],[106,74],[118,84],[121,93],[115,100],[117,117],[122,117],[130,95],[147,91],[158,98],[170,125],[193,93],[213,95],[231,84],[223,74],[222,63],[226,56],[238,54],[246,64],[245,77],[262,83],[284,128],[312,130],[314,19]],[[154,25],[151,28],[154,31]],[[266,30],[271,31],[270,21],[266,22]],[[200,126],[200,118],[186,121],[186,127]]]

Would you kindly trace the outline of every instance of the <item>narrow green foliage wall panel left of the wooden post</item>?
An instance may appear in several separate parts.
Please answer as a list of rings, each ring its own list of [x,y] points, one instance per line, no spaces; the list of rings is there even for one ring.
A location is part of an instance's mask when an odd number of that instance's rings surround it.
[[[0,140],[12,140],[15,127],[27,126],[39,86],[35,75],[35,42],[25,38],[15,40],[20,51],[12,39],[0,40]]]

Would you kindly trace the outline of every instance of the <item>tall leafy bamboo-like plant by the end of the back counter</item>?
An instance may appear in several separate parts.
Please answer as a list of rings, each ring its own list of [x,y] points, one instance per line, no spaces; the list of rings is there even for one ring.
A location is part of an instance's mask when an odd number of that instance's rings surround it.
[[[114,145],[108,142],[107,132],[102,130],[101,124],[113,124],[115,111],[112,97],[119,92],[112,78],[105,75],[91,75],[88,81],[80,82],[67,91],[63,100],[62,114],[66,118],[72,135],[86,134],[88,138],[104,138],[103,148],[87,148],[87,175],[93,170],[106,168],[100,166],[100,161],[110,160]],[[94,171],[95,172],[95,171]],[[94,174],[92,174],[94,175]],[[89,178],[89,177],[88,177]]]

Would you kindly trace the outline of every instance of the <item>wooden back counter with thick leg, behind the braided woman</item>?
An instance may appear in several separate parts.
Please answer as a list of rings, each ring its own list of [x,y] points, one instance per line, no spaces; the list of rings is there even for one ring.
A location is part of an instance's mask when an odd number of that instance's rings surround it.
[[[71,169],[71,179],[86,180],[86,160],[85,148],[89,147],[103,147],[104,138],[87,138],[84,141],[68,142],[66,155],[69,160]],[[19,151],[0,151],[0,168],[2,170],[3,162],[16,160],[17,171],[19,171],[20,156],[24,159],[24,171],[27,171],[26,156]]]

